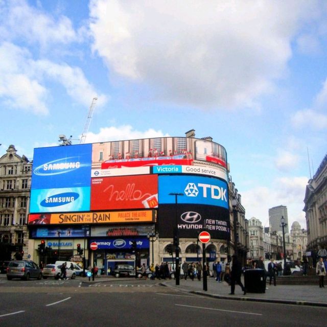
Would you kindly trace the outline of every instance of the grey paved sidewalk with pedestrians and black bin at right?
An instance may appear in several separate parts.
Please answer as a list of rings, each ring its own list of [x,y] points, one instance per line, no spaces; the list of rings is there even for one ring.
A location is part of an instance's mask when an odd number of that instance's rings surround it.
[[[242,278],[243,279],[243,278]],[[242,281],[243,283],[243,281]],[[266,293],[246,293],[243,295],[241,287],[235,286],[235,295],[229,295],[230,286],[226,282],[217,283],[215,278],[207,278],[207,291],[203,290],[203,280],[188,278],[187,281],[180,279],[176,286],[175,279],[161,280],[161,285],[176,288],[180,291],[194,294],[211,296],[220,299],[243,300],[243,301],[261,301],[271,303],[286,303],[293,305],[309,305],[327,307],[327,285],[325,288],[319,288],[317,285],[277,285],[269,286],[267,284]],[[244,285],[244,283],[243,283]]]

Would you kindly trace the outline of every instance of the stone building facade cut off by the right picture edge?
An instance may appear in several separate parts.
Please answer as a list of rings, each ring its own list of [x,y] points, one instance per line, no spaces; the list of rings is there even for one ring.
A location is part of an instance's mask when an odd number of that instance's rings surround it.
[[[327,154],[315,175],[308,181],[305,195],[308,251],[317,255],[327,249]]]

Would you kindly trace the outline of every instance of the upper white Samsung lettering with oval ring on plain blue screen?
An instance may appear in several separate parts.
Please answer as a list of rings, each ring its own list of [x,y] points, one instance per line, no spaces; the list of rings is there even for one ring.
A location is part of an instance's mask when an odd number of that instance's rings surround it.
[[[57,160],[45,162],[33,170],[35,175],[50,176],[72,172],[89,164],[81,164],[80,157],[65,157]]]

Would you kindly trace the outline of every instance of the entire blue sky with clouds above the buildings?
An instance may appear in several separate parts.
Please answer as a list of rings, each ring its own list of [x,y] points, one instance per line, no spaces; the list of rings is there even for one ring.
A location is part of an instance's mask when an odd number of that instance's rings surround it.
[[[0,0],[0,155],[213,137],[245,217],[298,221],[327,153],[327,2]]]

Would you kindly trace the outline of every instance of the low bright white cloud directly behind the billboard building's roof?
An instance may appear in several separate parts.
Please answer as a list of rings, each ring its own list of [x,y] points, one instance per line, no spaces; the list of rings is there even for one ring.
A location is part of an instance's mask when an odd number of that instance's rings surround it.
[[[137,138],[148,138],[148,137],[164,137],[169,136],[168,134],[162,133],[160,130],[148,129],[147,131],[138,131],[133,129],[130,125],[123,125],[118,127],[104,127],[100,129],[98,134],[89,132],[86,135],[86,143],[97,143],[118,141],[122,139],[137,139]]]

